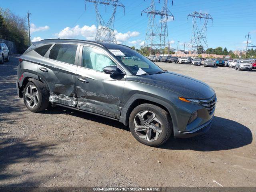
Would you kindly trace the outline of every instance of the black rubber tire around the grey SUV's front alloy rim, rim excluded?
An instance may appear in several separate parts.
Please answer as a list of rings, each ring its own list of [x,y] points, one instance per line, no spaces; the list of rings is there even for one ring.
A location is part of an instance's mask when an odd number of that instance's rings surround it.
[[[145,139],[140,138],[137,134],[136,131],[134,130],[135,125],[134,125],[134,118],[136,116],[136,114],[138,114],[141,111],[144,110],[148,110],[150,112],[154,112],[154,114],[156,115],[156,118],[158,118],[161,122],[162,122],[162,133],[159,135],[158,139],[155,141],[148,141]],[[172,130],[173,130],[173,126],[172,126],[172,120],[170,118],[170,115],[168,114],[168,112],[166,112],[166,110],[153,105],[153,104],[141,104],[139,106],[137,106],[136,108],[134,108],[134,110],[132,110],[130,117],[129,117],[129,127],[130,127],[130,131],[132,132],[132,135],[134,136],[134,138],[136,140],[138,140],[138,142],[148,145],[148,146],[152,146],[152,147],[156,147],[156,146],[160,146],[162,144],[164,144],[164,142],[166,142],[171,134],[172,134]]]

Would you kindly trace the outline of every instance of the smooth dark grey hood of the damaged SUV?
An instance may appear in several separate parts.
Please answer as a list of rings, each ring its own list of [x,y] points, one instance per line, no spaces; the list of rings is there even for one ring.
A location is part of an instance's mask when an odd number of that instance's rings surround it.
[[[206,99],[215,94],[214,90],[204,82],[174,72],[137,77],[140,82],[166,88],[186,98]]]

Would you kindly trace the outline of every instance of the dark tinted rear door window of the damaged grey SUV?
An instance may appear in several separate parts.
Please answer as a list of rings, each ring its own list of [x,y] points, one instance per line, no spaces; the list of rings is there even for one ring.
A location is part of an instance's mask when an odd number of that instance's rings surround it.
[[[76,58],[77,45],[72,44],[56,44],[50,51],[50,59],[74,64]]]

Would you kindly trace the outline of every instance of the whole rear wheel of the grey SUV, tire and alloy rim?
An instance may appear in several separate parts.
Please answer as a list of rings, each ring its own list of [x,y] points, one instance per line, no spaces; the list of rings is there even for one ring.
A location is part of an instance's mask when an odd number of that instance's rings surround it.
[[[28,82],[23,93],[24,104],[32,112],[45,110],[49,104],[49,92],[44,88],[44,84],[37,81],[35,84]]]

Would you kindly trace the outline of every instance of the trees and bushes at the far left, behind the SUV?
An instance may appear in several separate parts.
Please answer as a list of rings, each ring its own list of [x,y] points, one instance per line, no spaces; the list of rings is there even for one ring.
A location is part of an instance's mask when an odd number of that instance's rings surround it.
[[[26,17],[0,8],[0,38],[14,42],[17,52],[23,53],[29,44]]]

